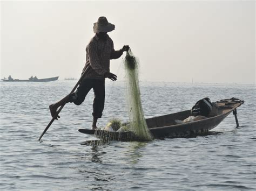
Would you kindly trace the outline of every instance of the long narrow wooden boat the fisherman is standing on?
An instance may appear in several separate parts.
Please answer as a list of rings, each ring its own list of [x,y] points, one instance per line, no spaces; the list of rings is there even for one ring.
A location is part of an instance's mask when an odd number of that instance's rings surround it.
[[[223,119],[230,115],[231,112],[233,112],[237,126],[239,126],[237,120],[237,108],[243,103],[244,101],[234,97],[215,102],[213,103],[213,109],[207,118],[199,121],[177,124],[177,119],[183,121],[190,116],[191,110],[186,110],[175,114],[148,118],[146,119],[146,123],[154,138],[194,137],[215,128],[221,121],[223,121]],[[120,133],[90,129],[79,129],[78,131],[104,139],[122,141],[139,140],[139,138],[131,131]]]

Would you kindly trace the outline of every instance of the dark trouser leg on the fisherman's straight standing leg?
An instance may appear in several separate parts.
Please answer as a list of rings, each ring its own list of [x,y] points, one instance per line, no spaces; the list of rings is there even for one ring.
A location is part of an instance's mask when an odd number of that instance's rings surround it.
[[[92,115],[95,118],[101,118],[105,103],[105,80],[95,80],[93,91],[94,100]]]

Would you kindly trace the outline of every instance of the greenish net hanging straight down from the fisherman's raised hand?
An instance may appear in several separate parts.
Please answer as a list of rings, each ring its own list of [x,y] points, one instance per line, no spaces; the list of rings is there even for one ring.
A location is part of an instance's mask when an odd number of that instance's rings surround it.
[[[138,63],[138,59],[129,49],[124,59],[129,127],[140,140],[152,140],[140,100]]]

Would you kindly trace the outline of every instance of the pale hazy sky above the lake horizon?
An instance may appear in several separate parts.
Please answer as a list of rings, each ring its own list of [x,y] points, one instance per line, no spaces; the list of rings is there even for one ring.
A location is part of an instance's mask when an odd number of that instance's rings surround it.
[[[79,78],[100,16],[115,49],[138,56],[140,80],[255,83],[254,1],[1,1],[1,77]]]

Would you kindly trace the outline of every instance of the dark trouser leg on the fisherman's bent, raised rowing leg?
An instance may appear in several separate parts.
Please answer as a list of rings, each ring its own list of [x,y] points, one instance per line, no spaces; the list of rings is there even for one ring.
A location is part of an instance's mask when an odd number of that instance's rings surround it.
[[[76,105],[80,105],[84,102],[85,96],[89,93],[91,88],[93,87],[94,80],[92,79],[84,79],[77,90],[70,95],[70,102],[75,103]]]

